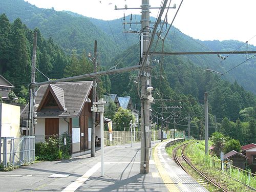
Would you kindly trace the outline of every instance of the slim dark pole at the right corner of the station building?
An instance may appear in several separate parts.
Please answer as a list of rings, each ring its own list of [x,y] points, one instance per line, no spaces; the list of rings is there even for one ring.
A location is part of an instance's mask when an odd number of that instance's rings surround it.
[[[94,41],[94,59],[93,59],[93,72],[96,73],[97,69],[97,40]],[[96,102],[97,97],[97,81],[93,80],[93,103]],[[91,157],[95,157],[95,117],[96,113],[92,111],[92,136],[91,136]]]

